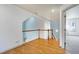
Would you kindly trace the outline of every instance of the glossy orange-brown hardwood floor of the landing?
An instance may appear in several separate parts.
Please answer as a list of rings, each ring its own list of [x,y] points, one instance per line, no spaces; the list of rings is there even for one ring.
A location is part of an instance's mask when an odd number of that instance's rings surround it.
[[[59,47],[59,42],[55,39],[36,39],[4,54],[64,54],[64,49]]]

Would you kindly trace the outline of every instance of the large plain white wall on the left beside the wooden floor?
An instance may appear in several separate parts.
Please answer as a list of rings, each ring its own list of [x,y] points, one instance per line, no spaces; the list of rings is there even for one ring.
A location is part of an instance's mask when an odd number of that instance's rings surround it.
[[[22,44],[22,22],[30,15],[15,5],[0,5],[0,52]]]

